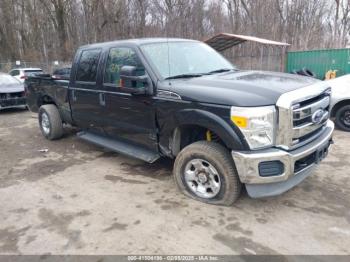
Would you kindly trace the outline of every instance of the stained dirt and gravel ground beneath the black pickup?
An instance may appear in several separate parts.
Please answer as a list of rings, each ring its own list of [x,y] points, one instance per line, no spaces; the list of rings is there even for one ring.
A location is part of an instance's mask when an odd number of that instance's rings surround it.
[[[233,207],[181,195],[171,161],[66,133],[50,142],[35,114],[0,112],[1,254],[350,254],[349,133],[295,189]]]

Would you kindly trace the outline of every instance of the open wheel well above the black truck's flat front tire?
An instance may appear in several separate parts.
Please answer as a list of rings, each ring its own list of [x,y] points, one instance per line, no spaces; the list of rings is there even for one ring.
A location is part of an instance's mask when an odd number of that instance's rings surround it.
[[[174,130],[171,149],[176,156],[184,147],[197,141],[213,141],[226,147],[222,139],[212,130],[198,125],[185,125]]]

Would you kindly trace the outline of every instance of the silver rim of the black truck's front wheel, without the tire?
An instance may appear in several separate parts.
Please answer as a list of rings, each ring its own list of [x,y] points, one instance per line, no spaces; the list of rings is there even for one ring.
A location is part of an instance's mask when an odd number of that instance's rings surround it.
[[[215,197],[221,188],[216,168],[203,159],[192,159],[185,166],[184,179],[190,190],[202,198]]]

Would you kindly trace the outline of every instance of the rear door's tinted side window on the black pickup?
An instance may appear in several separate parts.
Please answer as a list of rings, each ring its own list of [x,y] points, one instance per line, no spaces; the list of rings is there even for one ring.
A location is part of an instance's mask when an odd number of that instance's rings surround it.
[[[77,81],[96,82],[97,67],[100,59],[101,50],[83,51],[76,74]]]

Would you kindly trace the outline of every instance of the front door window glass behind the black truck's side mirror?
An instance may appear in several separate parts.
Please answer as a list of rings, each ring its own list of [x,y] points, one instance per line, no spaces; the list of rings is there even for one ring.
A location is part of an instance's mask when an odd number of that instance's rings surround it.
[[[119,86],[120,69],[123,66],[135,66],[138,76],[145,74],[145,68],[134,50],[127,47],[116,47],[109,51],[104,74],[104,83]],[[142,85],[142,83],[137,83],[135,87],[140,87],[139,85]]]

